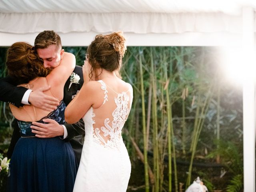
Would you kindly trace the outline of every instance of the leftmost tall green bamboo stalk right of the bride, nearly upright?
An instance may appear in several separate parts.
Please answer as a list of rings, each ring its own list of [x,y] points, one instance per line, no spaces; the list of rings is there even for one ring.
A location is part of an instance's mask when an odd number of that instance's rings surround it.
[[[145,116],[145,98],[144,98],[144,79],[142,70],[142,50],[139,50],[140,61],[140,86],[141,86],[141,102],[142,102],[142,128],[143,128],[143,143],[144,143],[144,171],[145,171],[145,191],[149,192],[149,180],[148,180],[148,154],[147,154],[147,141],[146,141],[146,116]]]

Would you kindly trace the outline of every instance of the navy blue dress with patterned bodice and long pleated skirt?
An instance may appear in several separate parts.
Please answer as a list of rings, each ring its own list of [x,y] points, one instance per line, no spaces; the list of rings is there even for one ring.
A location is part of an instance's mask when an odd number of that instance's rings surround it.
[[[64,124],[63,101],[48,116]],[[38,122],[44,123],[42,119]],[[74,151],[69,142],[59,137],[37,138],[31,132],[32,122],[18,120],[21,138],[10,160],[8,191],[72,192],[77,172]]]

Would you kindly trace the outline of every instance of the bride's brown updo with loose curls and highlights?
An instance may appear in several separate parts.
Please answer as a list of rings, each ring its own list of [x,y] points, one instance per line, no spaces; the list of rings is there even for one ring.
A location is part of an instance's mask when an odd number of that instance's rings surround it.
[[[87,48],[88,61],[92,66],[90,78],[92,78],[92,73],[97,68],[110,72],[118,70],[116,75],[120,77],[119,70],[125,51],[125,38],[122,32],[97,35]]]

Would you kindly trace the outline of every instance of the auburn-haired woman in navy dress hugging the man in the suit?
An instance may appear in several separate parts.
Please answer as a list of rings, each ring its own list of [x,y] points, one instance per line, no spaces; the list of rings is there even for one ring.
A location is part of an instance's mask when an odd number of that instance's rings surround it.
[[[50,45],[55,46],[55,45]],[[50,118],[64,124],[63,89],[75,67],[73,54],[60,51],[60,65],[52,70],[43,67],[34,48],[25,42],[14,43],[7,52],[9,75],[19,86],[31,90],[50,86],[44,92],[60,101],[54,111],[42,110],[32,105],[20,108],[10,104],[18,121],[21,138],[18,140],[8,174],[10,192],[71,192],[76,178],[77,163],[70,143],[60,137],[37,138],[30,126],[32,122],[45,123]]]

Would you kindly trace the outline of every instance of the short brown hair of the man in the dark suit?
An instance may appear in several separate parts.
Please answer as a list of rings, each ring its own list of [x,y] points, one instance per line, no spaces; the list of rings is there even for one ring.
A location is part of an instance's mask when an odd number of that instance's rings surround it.
[[[56,45],[56,49],[62,48],[60,36],[56,32],[45,30],[36,36],[34,42],[36,50],[48,48],[50,45]]]

